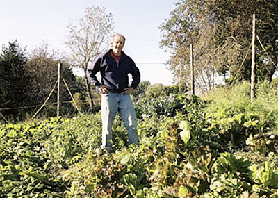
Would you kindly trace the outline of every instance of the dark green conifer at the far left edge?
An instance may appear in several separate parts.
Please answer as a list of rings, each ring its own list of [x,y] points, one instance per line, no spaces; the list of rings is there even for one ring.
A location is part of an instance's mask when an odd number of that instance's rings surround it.
[[[3,45],[0,53],[0,109],[6,117],[21,117],[22,110],[13,107],[28,104],[29,78],[24,71],[27,62],[26,49],[17,40]]]

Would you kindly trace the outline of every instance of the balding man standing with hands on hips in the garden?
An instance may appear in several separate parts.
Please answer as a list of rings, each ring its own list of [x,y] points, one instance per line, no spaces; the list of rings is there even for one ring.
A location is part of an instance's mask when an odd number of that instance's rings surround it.
[[[138,144],[136,112],[130,94],[140,82],[140,72],[134,61],[122,51],[125,40],[121,34],[113,35],[112,49],[101,54],[87,71],[89,81],[101,92],[102,149],[111,149],[109,140],[112,140],[112,124],[117,112],[126,126],[129,145]],[[101,82],[96,77],[97,72],[101,74]],[[131,85],[128,74],[132,75]]]

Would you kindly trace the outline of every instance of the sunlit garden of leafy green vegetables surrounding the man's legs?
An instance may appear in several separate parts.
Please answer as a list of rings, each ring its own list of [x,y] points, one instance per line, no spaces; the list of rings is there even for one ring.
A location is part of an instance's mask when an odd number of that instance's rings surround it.
[[[100,113],[2,124],[0,197],[278,197],[277,109],[224,93],[138,101],[140,144],[116,117],[110,152]]]

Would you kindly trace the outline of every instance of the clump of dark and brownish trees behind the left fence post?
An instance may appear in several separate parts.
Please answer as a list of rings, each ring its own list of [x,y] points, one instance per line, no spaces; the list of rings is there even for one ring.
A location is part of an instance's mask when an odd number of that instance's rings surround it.
[[[58,79],[58,63],[63,64],[63,78],[72,94],[82,92],[81,83],[74,76],[70,63],[59,60],[55,51],[47,44],[27,53],[17,40],[3,45],[0,53],[0,112],[1,119],[24,119],[35,113],[47,99]],[[62,101],[71,101],[70,94],[61,83]],[[57,89],[51,94],[48,104],[42,109],[47,116],[56,114],[54,103],[57,101]],[[63,113],[74,111],[72,104],[63,104]],[[0,120],[1,120],[0,119]]]

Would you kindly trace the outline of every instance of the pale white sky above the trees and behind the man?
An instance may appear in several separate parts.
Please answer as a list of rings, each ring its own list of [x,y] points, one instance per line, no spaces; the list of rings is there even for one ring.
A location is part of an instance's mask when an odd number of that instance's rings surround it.
[[[17,39],[27,51],[47,42],[66,51],[65,31],[70,19],[83,17],[88,6],[112,13],[115,32],[126,37],[124,52],[138,63],[142,81],[172,84],[172,74],[163,64],[169,54],[159,48],[159,26],[170,17],[174,0],[0,0],[0,44]]]

